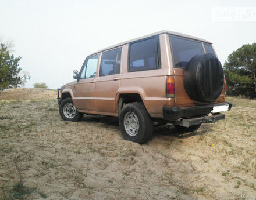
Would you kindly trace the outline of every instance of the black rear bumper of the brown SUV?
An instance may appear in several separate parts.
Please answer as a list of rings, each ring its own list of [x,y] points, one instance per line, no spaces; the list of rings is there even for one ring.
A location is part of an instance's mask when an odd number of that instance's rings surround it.
[[[164,106],[163,118],[169,119],[169,120],[176,120],[179,118],[207,115],[211,113],[214,106],[224,106],[227,104],[229,105],[229,110],[230,110],[232,107],[232,103],[229,103],[229,102],[220,103],[220,104],[208,104],[208,105],[202,105],[202,106],[192,106],[192,107],[165,107]]]

